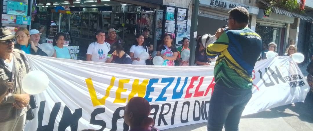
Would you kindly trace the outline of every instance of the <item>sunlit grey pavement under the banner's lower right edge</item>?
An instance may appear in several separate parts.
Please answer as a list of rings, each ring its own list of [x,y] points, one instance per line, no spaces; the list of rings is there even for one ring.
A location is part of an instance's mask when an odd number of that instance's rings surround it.
[[[307,64],[299,65],[304,76]],[[163,131],[207,131],[207,123],[192,124]],[[240,131],[313,131],[313,94],[295,106],[285,105],[241,117]],[[223,129],[224,131],[224,129]]]

